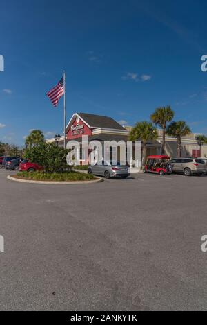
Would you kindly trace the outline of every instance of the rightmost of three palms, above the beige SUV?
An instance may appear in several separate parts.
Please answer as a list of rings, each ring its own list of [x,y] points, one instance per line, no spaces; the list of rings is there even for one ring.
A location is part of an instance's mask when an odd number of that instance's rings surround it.
[[[172,122],[168,125],[166,133],[177,139],[177,157],[181,157],[181,137],[185,137],[191,132],[185,121]]]

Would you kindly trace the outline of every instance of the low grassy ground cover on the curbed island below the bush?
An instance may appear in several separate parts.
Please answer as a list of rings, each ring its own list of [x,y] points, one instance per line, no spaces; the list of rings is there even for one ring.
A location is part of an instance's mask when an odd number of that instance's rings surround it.
[[[32,181],[55,181],[55,182],[75,182],[94,180],[93,175],[83,174],[79,172],[63,172],[63,173],[44,173],[44,172],[21,172],[17,173],[17,178],[28,179]]]

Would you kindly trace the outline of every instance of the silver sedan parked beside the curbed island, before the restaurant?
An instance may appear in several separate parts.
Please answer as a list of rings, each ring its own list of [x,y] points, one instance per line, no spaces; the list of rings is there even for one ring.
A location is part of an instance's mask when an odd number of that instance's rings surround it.
[[[95,165],[88,167],[88,174],[104,176],[105,178],[126,178],[130,176],[130,170],[128,166],[121,165],[119,162],[114,164],[113,161],[98,161]]]

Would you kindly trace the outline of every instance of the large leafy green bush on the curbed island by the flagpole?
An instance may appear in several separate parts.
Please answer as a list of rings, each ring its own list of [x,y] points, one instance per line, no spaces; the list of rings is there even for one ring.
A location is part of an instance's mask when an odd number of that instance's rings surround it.
[[[66,157],[68,150],[52,143],[41,143],[39,146],[28,147],[25,158],[44,167],[47,173],[65,170],[68,165]]]

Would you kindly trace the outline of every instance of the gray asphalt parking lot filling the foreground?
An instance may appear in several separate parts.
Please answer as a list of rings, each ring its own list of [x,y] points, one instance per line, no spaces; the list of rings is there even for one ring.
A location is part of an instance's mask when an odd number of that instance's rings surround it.
[[[207,309],[207,177],[72,186],[6,175],[1,310]]]

